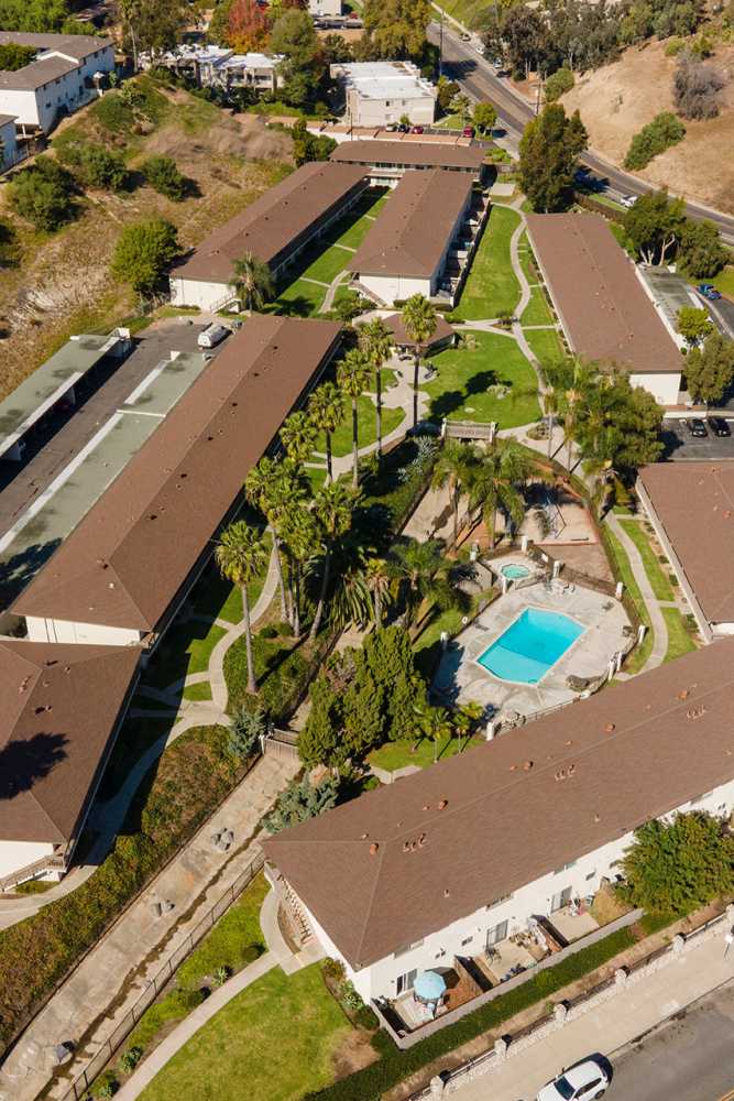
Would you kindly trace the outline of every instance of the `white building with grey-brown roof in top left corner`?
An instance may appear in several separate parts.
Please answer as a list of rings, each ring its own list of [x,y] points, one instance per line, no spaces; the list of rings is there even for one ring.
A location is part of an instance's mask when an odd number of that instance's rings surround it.
[[[0,31],[0,45],[9,43],[37,50],[23,68],[0,73],[0,111],[14,116],[23,131],[48,133],[61,118],[100,94],[100,81],[114,68],[109,39]]]

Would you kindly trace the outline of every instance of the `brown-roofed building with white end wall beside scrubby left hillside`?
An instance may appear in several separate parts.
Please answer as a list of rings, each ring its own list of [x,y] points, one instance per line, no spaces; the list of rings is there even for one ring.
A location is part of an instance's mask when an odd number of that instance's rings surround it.
[[[177,306],[219,309],[234,298],[234,265],[248,252],[277,279],[369,186],[363,168],[313,161],[215,230],[171,273]]]

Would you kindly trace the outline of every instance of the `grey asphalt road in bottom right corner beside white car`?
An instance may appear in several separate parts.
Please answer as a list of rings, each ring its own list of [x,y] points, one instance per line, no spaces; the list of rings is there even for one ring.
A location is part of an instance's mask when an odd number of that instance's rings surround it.
[[[734,984],[671,1017],[612,1061],[610,1101],[720,1101],[734,1088]]]

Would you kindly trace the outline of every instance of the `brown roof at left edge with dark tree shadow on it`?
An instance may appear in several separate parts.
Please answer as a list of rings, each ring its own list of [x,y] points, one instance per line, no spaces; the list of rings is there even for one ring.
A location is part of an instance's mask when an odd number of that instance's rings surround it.
[[[135,673],[136,646],[0,642],[0,839],[62,843]]]

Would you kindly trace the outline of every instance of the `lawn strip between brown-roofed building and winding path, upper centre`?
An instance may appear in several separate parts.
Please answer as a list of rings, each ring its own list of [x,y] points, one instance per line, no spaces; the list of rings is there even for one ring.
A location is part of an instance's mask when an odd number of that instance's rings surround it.
[[[508,207],[492,208],[461,299],[453,310],[460,320],[496,317],[501,310],[517,305],[519,283],[510,262],[510,239],[519,220],[519,215]]]

